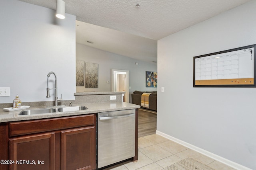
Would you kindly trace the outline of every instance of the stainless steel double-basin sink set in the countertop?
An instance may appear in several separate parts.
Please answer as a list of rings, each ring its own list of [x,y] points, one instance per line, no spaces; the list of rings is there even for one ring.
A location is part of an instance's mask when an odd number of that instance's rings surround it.
[[[51,108],[42,108],[42,109],[28,109],[21,111],[18,115],[34,115],[34,114],[43,114],[43,113],[57,113],[57,112],[66,112],[66,111],[80,111],[88,109],[85,106],[67,106],[67,107],[51,107]]]

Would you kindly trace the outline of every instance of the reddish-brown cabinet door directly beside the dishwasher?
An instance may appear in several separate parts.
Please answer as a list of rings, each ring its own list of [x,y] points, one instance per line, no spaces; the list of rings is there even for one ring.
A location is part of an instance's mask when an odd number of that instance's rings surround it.
[[[61,131],[61,170],[96,169],[95,127]]]

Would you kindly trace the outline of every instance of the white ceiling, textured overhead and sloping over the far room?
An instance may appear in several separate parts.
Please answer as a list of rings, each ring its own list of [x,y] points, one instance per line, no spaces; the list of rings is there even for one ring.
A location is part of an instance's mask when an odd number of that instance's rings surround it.
[[[56,0],[20,1],[56,9]],[[64,0],[76,16],[77,43],[146,62],[157,61],[158,39],[248,1]]]

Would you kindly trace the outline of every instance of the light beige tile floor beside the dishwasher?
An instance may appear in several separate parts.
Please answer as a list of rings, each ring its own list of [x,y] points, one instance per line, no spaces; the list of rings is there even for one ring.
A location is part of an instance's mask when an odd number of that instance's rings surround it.
[[[126,161],[104,170],[162,170],[166,166],[188,157],[198,160],[215,170],[235,170],[156,134],[138,139],[138,162]]]

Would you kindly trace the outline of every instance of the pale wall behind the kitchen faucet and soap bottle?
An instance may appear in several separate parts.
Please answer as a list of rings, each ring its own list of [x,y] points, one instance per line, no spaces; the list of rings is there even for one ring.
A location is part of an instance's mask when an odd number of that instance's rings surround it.
[[[11,103],[16,93],[22,102],[53,101],[46,98],[47,74],[56,73],[58,94],[74,100],[76,92],[76,17],[66,14],[60,20],[55,11],[20,2],[0,1],[0,87],[10,87]],[[54,75],[49,78],[54,87]]]

